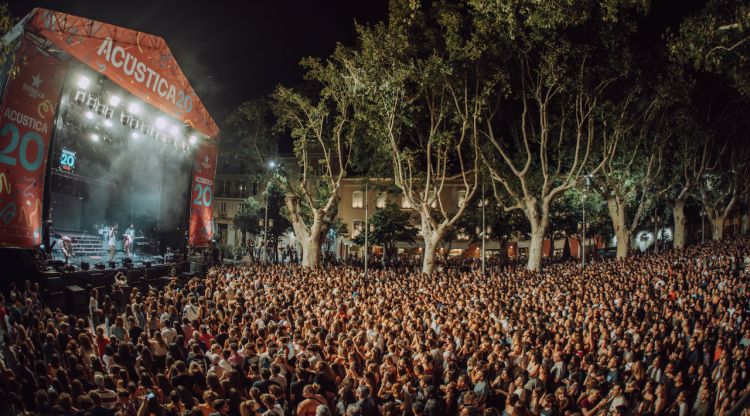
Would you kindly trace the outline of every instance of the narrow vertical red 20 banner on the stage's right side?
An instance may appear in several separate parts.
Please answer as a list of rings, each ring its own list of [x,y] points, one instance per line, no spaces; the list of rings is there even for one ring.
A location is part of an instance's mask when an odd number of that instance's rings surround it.
[[[201,142],[195,152],[190,193],[191,246],[205,246],[213,238],[214,177],[217,149],[214,143]]]

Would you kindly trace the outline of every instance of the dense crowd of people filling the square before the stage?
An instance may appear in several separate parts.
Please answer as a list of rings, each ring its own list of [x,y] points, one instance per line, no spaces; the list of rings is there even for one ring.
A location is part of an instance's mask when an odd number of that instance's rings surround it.
[[[425,276],[212,268],[88,313],[0,297],[0,407],[81,416],[729,415],[750,239]],[[732,411],[733,412],[733,411]],[[748,414],[747,410],[741,410]]]

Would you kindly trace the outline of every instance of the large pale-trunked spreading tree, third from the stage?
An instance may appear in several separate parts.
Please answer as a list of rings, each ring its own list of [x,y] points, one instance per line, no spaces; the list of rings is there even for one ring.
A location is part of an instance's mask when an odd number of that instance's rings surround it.
[[[483,44],[508,56],[501,73],[508,92],[498,94],[504,120],[484,121],[486,151],[498,202],[519,210],[531,228],[527,268],[539,270],[554,201],[596,173],[600,137],[596,114],[603,92],[627,72],[625,35],[640,2],[469,2]],[[500,58],[498,61],[502,62]],[[507,98],[507,99],[503,99]]]

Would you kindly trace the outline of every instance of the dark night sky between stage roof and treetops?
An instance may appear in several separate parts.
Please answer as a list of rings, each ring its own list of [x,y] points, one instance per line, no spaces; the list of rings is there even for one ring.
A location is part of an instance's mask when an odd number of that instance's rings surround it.
[[[211,115],[302,80],[299,61],[354,43],[354,21],[374,23],[387,0],[9,2],[21,18],[44,7],[163,37]]]

